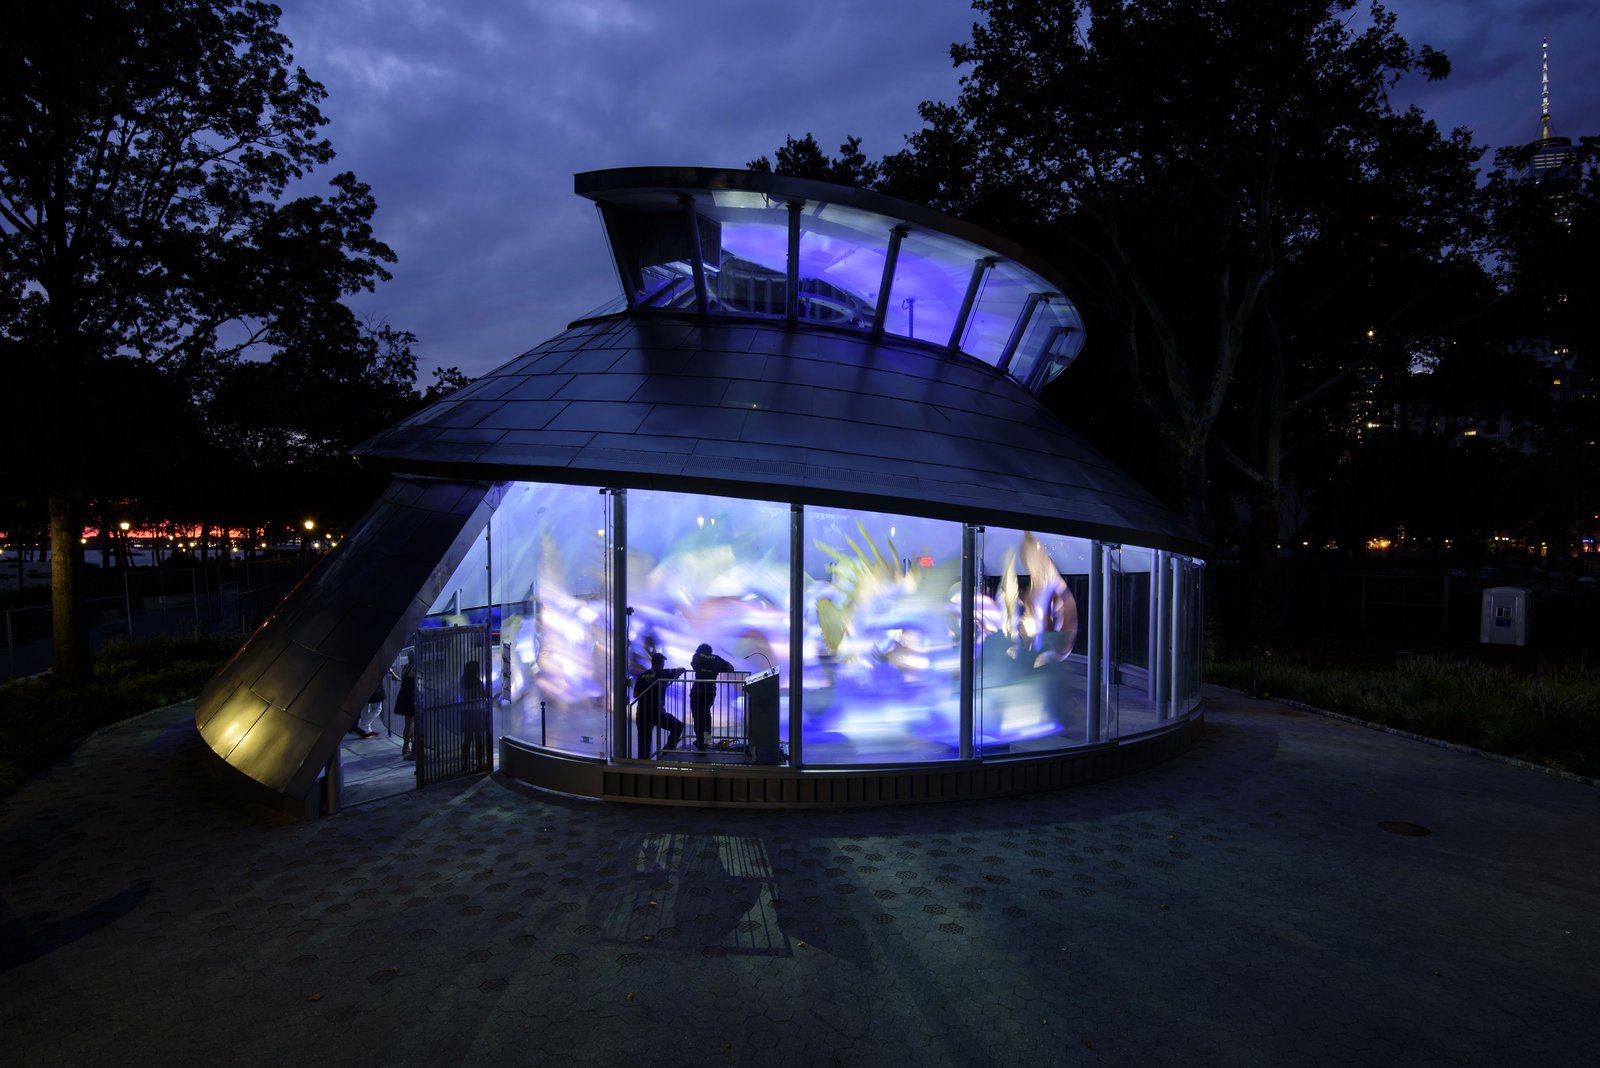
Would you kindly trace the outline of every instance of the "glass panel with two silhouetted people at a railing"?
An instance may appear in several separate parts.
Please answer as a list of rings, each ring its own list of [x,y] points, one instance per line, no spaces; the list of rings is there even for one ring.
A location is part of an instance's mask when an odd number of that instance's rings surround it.
[[[779,671],[779,737],[789,724],[789,505],[738,497],[627,491],[627,649],[630,676],[662,652],[688,667],[694,649],[738,671]],[[669,691],[682,718],[686,684]],[[717,699],[723,700],[722,695]],[[742,743],[742,723],[714,710],[710,745]],[[690,724],[685,740],[694,742]]]

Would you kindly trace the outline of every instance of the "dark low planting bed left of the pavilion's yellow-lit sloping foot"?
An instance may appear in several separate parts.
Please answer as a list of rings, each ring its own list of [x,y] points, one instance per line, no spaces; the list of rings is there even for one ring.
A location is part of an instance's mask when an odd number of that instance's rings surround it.
[[[106,646],[94,679],[58,689],[50,678],[0,683],[0,795],[72,751],[85,735],[200,692],[238,638],[187,636]]]

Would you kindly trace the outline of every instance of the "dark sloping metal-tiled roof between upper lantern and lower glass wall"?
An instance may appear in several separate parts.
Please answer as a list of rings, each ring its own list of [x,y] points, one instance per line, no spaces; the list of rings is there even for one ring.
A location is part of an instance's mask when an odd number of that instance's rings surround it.
[[[890,336],[584,321],[355,449],[392,472],[904,510],[1203,552],[997,368]]]

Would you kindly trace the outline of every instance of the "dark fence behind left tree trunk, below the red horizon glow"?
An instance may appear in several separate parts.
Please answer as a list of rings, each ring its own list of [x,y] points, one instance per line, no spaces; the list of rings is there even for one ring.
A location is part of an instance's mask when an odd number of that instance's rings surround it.
[[[160,635],[248,635],[299,580],[296,560],[248,560],[227,568],[141,568],[125,571],[120,596],[83,603],[90,649],[120,638]],[[48,604],[3,612],[6,678],[37,675],[53,656]]]

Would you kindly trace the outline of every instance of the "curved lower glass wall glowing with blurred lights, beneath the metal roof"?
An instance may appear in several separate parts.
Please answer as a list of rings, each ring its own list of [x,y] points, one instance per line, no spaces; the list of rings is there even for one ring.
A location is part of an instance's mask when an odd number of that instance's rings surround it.
[[[1198,708],[1202,566],[1042,531],[518,481],[424,625],[488,620],[498,732],[560,753],[638,759],[634,679],[651,654],[688,667],[709,644],[733,678],[776,673],[770,763],[938,764]],[[747,743],[733,729],[717,742]]]

